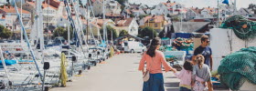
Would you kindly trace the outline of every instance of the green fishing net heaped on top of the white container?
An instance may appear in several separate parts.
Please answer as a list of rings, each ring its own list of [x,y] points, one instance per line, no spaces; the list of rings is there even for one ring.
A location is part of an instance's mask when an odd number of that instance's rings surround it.
[[[233,29],[235,35],[240,39],[254,38],[256,36],[256,22],[248,20],[241,15],[229,17],[220,28]]]

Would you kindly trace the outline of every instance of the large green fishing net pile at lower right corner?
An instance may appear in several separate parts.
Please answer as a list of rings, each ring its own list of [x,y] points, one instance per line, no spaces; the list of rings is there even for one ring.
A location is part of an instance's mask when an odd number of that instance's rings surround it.
[[[231,90],[240,90],[246,80],[256,85],[256,46],[226,56],[220,62],[218,73],[221,84]]]

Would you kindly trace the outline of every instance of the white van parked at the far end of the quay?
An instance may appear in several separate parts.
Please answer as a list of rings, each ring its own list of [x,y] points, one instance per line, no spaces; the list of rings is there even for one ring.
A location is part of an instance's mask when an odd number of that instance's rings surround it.
[[[146,50],[146,46],[140,42],[135,41],[125,41],[124,42],[124,52],[144,52]]]

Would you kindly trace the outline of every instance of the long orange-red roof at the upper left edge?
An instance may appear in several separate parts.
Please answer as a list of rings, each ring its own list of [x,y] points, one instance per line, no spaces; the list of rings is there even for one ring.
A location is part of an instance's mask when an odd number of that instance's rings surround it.
[[[5,6],[4,8],[0,7],[0,10],[4,11],[5,13],[16,13],[16,8],[13,6]],[[17,7],[19,13],[21,13],[21,9]],[[30,14],[27,10],[22,10],[22,14]]]

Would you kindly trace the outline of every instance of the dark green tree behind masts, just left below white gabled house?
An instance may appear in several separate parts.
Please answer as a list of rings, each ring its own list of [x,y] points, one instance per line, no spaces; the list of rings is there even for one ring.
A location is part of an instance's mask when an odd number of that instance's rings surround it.
[[[109,40],[115,39],[116,37],[118,37],[116,30],[111,25],[107,25],[106,30],[108,34],[107,37]],[[100,32],[101,32],[101,36],[103,36],[103,27],[101,27]]]

